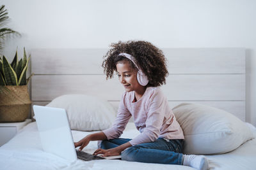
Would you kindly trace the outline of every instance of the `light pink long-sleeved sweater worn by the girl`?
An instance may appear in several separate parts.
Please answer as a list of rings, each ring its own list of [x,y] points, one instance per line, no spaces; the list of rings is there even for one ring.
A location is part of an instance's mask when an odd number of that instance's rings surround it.
[[[132,146],[157,138],[184,139],[182,129],[159,87],[147,87],[141,99],[132,103],[134,91],[124,92],[113,126],[102,132],[108,139],[119,138],[131,116],[140,135],[129,141]]]

